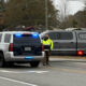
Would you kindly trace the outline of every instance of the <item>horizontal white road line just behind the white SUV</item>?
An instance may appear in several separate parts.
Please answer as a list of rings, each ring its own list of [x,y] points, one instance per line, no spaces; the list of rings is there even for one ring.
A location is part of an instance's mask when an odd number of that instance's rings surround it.
[[[42,74],[42,73],[47,73],[48,71],[24,71],[24,72],[19,72],[19,71],[8,71],[8,70],[0,70],[0,72],[4,72],[4,73],[38,73],[38,74]]]

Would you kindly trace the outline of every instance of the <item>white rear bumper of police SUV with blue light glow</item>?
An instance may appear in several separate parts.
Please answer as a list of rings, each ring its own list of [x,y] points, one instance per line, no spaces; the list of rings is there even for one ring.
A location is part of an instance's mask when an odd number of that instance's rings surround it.
[[[14,56],[13,53],[8,52],[4,56],[5,61],[34,61],[34,60],[43,60],[44,52],[41,56]]]

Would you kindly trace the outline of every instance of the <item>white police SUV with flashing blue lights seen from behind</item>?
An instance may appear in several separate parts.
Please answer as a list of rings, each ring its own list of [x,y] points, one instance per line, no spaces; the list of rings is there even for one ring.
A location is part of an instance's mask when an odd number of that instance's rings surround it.
[[[28,31],[0,32],[0,67],[14,62],[29,62],[31,67],[38,67],[43,57],[43,45],[38,33]]]

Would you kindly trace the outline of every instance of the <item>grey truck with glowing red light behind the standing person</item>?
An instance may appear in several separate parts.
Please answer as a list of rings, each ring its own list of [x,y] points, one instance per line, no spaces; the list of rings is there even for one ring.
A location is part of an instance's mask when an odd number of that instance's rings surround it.
[[[48,34],[54,41],[52,54],[58,55],[86,55],[86,31],[85,30],[48,30],[42,32],[41,39]]]

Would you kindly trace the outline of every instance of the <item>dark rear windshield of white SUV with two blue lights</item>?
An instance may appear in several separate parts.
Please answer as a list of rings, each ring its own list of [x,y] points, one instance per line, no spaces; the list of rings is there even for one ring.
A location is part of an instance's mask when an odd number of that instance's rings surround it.
[[[41,44],[41,40],[39,35],[32,35],[32,34],[22,34],[22,35],[13,35],[14,44],[19,45],[39,45]]]

